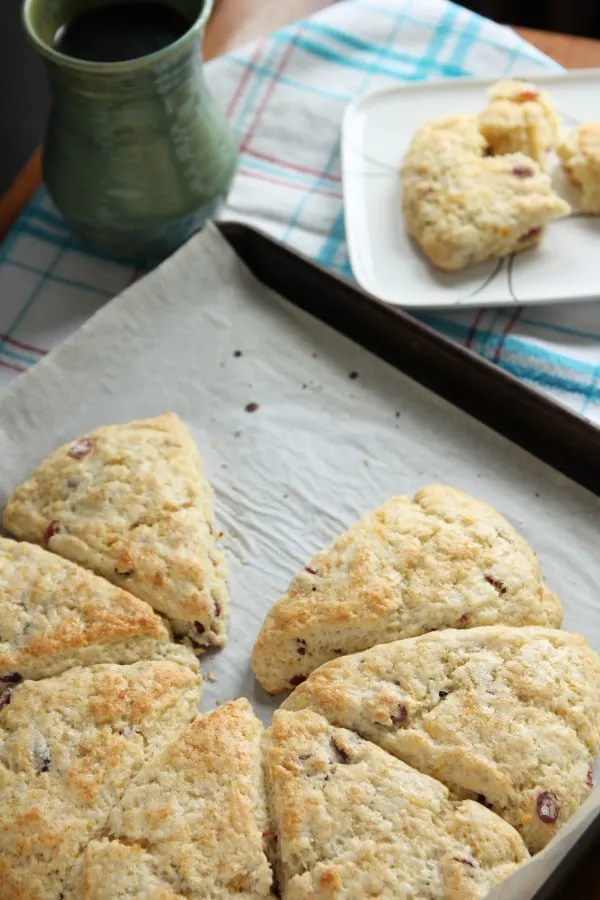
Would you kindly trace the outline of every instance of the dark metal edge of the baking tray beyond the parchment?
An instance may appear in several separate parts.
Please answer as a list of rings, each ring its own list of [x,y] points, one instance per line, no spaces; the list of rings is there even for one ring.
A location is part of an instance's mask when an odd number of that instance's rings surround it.
[[[591,422],[265,234],[233,222],[219,229],[267,287],[600,496]],[[569,896],[569,878],[599,844],[600,816],[532,900]]]

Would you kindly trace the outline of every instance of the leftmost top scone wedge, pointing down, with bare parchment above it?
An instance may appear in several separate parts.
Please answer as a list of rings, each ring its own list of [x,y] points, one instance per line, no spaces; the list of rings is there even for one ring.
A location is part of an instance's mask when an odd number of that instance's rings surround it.
[[[173,413],[65,444],[17,488],[3,523],[145,600],[194,649],[225,644],[227,573],[212,491]]]

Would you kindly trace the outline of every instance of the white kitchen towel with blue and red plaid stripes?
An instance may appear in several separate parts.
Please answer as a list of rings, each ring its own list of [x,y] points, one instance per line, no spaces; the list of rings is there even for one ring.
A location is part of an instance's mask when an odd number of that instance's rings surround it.
[[[352,278],[340,177],[347,104],[398,82],[535,77],[548,68],[557,66],[511,29],[446,0],[341,0],[206,67],[241,146],[221,218],[258,227]],[[139,274],[84,247],[38,191],[0,248],[0,384]],[[422,318],[598,420],[598,311],[592,302]]]

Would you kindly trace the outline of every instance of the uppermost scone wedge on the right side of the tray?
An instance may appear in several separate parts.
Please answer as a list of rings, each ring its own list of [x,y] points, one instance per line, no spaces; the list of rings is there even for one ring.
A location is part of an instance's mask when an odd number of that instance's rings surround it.
[[[497,512],[430,485],[318,553],[270,609],[252,667],[276,694],[322,663],[438,628],[558,626],[537,557]]]

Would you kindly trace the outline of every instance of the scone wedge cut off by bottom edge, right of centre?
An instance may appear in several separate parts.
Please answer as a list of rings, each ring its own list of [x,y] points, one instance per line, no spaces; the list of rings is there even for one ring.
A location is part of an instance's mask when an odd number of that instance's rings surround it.
[[[528,858],[484,806],[311,711],[276,712],[265,743],[283,900],[474,900]]]

